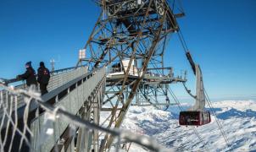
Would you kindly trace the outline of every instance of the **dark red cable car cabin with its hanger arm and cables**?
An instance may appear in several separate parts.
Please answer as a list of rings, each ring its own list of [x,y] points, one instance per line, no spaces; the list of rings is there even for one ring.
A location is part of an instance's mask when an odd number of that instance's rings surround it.
[[[223,138],[225,139],[225,144],[227,145],[227,147],[230,147],[229,140],[220,124],[220,121],[219,121],[216,113],[213,110],[212,103],[209,100],[209,95],[207,94],[206,90],[203,87],[203,74],[202,74],[201,68],[199,67],[198,64],[196,64],[193,61],[192,55],[188,51],[188,48],[186,46],[186,41],[184,40],[184,36],[182,35],[181,30],[178,31],[178,35],[179,35],[179,39],[181,41],[181,46],[183,47],[184,52],[186,53],[186,59],[190,63],[193,73],[196,75],[196,95],[192,95],[191,90],[188,90],[186,88],[185,82],[183,82],[183,86],[184,86],[186,92],[189,95],[191,95],[192,98],[194,98],[196,100],[196,103],[194,106],[189,108],[187,111],[182,111],[181,104],[180,104],[180,102],[178,102],[179,107],[181,109],[180,116],[179,116],[179,124],[185,125],[185,126],[202,126],[204,124],[207,124],[207,123],[211,122],[211,116],[210,116],[210,111],[211,111],[211,113],[214,116],[215,121],[218,125],[218,128],[220,129],[220,133],[223,136]],[[207,102],[210,111],[204,110],[205,102]],[[200,135],[195,130],[195,128],[193,128],[193,129],[194,129],[194,132],[196,133],[196,135],[198,136],[198,138],[200,138],[200,140],[203,141],[203,139],[200,137]]]

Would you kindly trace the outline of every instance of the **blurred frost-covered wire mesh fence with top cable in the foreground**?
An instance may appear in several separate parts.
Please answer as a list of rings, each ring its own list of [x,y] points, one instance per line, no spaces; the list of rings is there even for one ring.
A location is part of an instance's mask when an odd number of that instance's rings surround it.
[[[53,106],[45,103],[40,93],[35,88],[29,90],[14,89],[0,84],[0,107],[1,113],[1,151],[51,151],[53,146],[64,144],[59,128],[56,128],[56,122],[69,125],[70,137],[75,137],[77,128],[86,128],[88,131],[94,130],[109,133],[117,138],[115,150],[120,150],[120,142],[136,143],[153,151],[172,151],[174,149],[164,149],[152,138],[142,136],[141,134],[131,133],[120,129],[103,128],[90,120],[82,119],[74,113],[66,111],[62,106]],[[18,96],[23,95],[25,107],[20,111],[18,108]],[[36,111],[31,111],[31,107],[37,107]],[[19,111],[18,111],[19,109]],[[40,111],[44,111],[43,117]],[[39,117],[36,121],[31,121],[31,115]],[[40,117],[41,116],[41,117]],[[32,123],[31,123],[32,122]],[[40,126],[40,128],[39,128]],[[51,139],[53,138],[53,140]],[[46,144],[47,143],[47,144]],[[42,145],[49,145],[46,148]],[[55,144],[55,145],[54,145]],[[77,144],[70,144],[67,149],[75,151]],[[65,150],[67,150],[65,149]]]

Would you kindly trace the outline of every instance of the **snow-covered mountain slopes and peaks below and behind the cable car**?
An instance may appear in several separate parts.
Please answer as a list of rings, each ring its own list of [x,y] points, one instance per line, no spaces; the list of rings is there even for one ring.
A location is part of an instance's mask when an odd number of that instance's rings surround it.
[[[214,117],[209,124],[196,128],[203,138],[202,143],[193,127],[178,125],[178,108],[175,106],[167,111],[131,106],[122,128],[156,138],[165,147],[178,151],[256,151],[256,101],[225,100],[214,102],[213,107],[230,147],[225,144]],[[131,151],[142,149],[132,144]]]

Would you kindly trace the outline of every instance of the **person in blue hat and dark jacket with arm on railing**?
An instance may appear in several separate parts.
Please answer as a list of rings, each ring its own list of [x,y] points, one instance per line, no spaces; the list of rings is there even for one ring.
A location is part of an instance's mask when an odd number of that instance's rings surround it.
[[[27,86],[31,86],[32,84],[35,84],[37,86],[36,72],[32,68],[31,62],[26,62],[25,68],[26,68],[25,73],[18,75],[17,79],[25,79]]]

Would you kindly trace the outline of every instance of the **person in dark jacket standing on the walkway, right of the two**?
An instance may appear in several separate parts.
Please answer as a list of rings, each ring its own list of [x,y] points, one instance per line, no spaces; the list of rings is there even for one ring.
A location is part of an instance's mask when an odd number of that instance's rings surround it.
[[[40,84],[41,94],[47,94],[47,85],[50,80],[50,72],[48,68],[44,66],[44,62],[40,62],[40,67],[37,69],[37,82]]]

